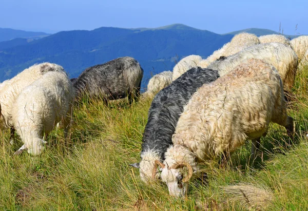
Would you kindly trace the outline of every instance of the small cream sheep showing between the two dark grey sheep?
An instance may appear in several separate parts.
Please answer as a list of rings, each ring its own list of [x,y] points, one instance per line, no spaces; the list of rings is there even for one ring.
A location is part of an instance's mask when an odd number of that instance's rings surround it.
[[[155,95],[157,92],[171,84],[172,82],[172,72],[163,71],[159,74],[154,75],[147,86],[147,91],[145,94]]]

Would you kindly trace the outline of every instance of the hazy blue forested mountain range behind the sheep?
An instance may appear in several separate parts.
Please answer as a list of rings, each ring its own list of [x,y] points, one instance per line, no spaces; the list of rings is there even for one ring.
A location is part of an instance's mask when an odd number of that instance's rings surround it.
[[[124,29],[101,27],[91,31],[62,31],[21,33],[4,37],[18,37],[0,42],[0,81],[12,78],[23,69],[41,62],[62,65],[71,78],[85,68],[102,64],[121,56],[134,57],[144,69],[142,87],[152,74],[172,70],[182,57],[197,54],[207,57],[240,32],[256,35],[278,33],[267,29],[245,29],[217,34],[174,24],[159,28]]]

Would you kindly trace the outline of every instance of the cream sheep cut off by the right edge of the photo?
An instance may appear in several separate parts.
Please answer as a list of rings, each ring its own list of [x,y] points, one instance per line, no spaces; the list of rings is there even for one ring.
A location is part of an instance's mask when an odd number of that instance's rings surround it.
[[[308,61],[308,36],[296,37],[290,43],[298,56],[300,66],[305,65]]]

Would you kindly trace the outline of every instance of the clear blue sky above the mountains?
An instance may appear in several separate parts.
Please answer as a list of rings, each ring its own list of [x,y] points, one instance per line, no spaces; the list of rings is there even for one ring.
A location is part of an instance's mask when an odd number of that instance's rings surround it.
[[[0,0],[0,27],[54,33],[181,23],[216,33],[266,28],[308,34],[308,1]],[[297,30],[296,30],[297,25]]]

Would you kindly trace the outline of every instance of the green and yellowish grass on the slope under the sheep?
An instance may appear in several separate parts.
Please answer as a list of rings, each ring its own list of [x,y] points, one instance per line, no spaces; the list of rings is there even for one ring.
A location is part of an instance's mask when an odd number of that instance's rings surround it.
[[[204,177],[190,181],[185,199],[170,197],[164,184],[142,183],[138,169],[129,166],[140,160],[150,99],[132,106],[125,101],[79,105],[70,141],[61,128],[54,130],[37,157],[13,156],[22,143],[11,146],[5,131],[0,135],[0,209],[308,210],[307,79],[308,68],[299,70],[297,100],[288,110],[296,120],[294,146],[285,146],[284,128],[273,124],[262,139],[262,159],[251,163],[247,141],[226,168],[217,161],[202,164]]]

